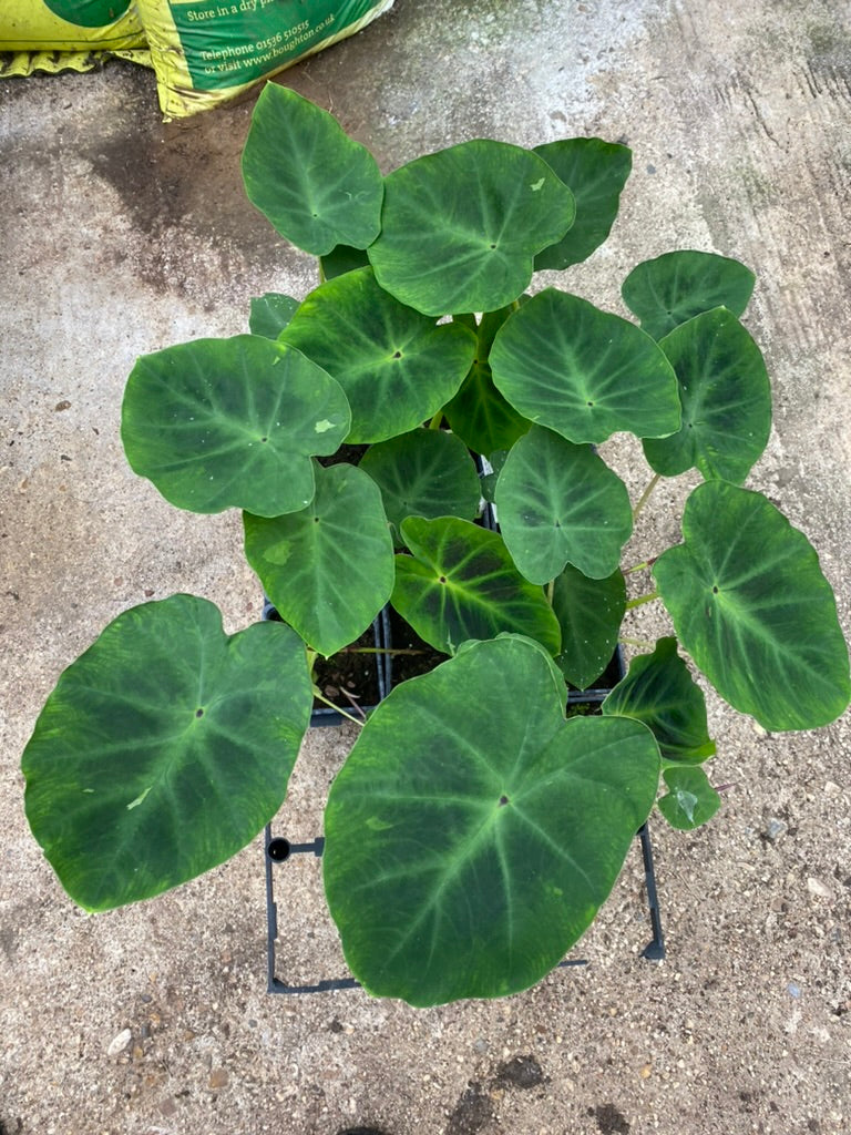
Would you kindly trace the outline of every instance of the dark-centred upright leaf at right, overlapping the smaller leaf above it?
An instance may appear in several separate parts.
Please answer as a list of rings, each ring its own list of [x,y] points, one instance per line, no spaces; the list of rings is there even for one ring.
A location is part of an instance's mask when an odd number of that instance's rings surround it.
[[[772,429],[772,387],[759,347],[726,308],[681,323],[659,346],[680,382],[683,421],[671,437],[644,442],[657,473],[697,468],[707,480],[741,485]]]

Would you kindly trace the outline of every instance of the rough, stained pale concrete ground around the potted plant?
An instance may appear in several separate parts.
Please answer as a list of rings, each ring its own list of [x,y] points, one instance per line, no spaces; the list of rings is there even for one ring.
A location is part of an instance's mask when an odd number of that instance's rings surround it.
[[[674,247],[757,271],[747,322],[776,414],[749,484],[814,540],[851,628],[848,8],[397,0],[283,81],[385,169],[471,136],[626,141],[634,174],[610,243],[565,286],[621,310],[626,271]],[[590,965],[503,1002],[268,995],[259,841],[96,917],[54,881],[18,760],[60,671],[145,597],[208,596],[229,629],[259,613],[237,518],[170,508],[118,440],[137,354],[241,330],[250,296],[312,284],[243,196],[250,111],[163,125],[153,76],[124,64],[0,84],[0,1130],[846,1135],[848,715],[774,737],[710,699],[711,775],[731,787],[707,829],[656,825],[667,960],[639,956],[635,859],[581,943]],[[666,505],[683,493],[657,494],[642,555],[676,539]],[[318,832],[351,742],[309,737],[281,829]],[[313,864],[280,872],[285,976],[338,975]]]

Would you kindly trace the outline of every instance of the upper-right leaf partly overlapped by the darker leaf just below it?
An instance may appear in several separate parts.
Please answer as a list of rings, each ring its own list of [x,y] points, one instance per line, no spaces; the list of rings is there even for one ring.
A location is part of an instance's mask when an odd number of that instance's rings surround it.
[[[713,308],[741,316],[756,276],[738,260],[714,252],[666,252],[637,264],[623,281],[624,303],[655,339]]]

